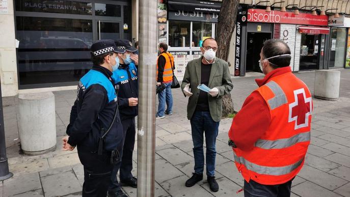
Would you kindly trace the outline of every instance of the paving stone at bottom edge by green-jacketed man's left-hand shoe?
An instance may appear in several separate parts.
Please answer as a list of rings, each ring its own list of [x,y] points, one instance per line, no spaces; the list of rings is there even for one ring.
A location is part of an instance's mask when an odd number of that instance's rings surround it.
[[[171,196],[213,196],[208,191],[206,191],[203,187],[195,184],[192,187],[184,187],[184,183],[188,178],[186,176],[177,177],[163,183],[160,183],[161,187],[163,187]]]

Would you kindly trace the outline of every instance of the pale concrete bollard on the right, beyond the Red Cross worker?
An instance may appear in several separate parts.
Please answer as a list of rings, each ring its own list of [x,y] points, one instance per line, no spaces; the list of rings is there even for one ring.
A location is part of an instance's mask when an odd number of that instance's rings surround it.
[[[338,100],[340,86],[340,71],[316,70],[314,97],[324,100]]]

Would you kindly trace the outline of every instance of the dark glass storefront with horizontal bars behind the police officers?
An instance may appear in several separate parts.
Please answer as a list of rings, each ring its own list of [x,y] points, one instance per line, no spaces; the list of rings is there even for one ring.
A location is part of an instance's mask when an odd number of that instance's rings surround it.
[[[14,1],[19,89],[76,85],[99,39],[131,40],[129,1]]]

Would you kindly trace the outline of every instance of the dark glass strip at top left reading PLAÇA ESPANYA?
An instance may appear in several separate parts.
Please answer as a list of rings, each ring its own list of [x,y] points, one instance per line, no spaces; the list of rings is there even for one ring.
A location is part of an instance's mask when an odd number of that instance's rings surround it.
[[[75,1],[17,0],[16,11],[92,15],[92,3]]]

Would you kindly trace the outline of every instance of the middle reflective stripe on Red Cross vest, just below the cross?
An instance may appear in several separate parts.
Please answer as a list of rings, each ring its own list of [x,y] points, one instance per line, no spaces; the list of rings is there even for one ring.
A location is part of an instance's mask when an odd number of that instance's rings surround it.
[[[310,141],[310,131],[299,133],[293,135],[289,138],[276,139],[276,140],[267,140],[267,139],[258,139],[255,143],[255,147],[262,149],[283,149],[291,147],[297,143],[308,142]]]

